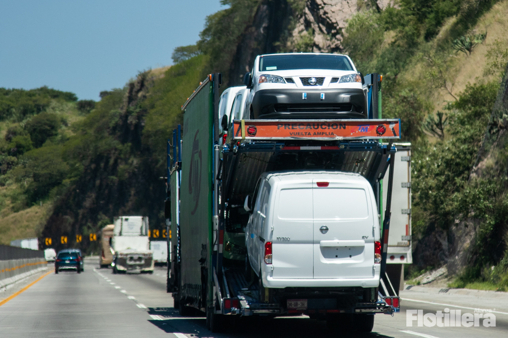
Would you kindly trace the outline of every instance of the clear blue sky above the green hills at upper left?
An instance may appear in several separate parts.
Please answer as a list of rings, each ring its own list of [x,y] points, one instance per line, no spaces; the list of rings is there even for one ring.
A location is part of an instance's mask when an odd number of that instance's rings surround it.
[[[99,100],[199,40],[219,0],[0,0],[0,87]]]

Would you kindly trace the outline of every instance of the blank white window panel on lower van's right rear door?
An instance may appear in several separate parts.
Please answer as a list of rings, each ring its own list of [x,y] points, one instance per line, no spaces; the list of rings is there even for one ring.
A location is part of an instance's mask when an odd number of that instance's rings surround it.
[[[365,219],[369,215],[363,189],[313,189],[314,219]]]

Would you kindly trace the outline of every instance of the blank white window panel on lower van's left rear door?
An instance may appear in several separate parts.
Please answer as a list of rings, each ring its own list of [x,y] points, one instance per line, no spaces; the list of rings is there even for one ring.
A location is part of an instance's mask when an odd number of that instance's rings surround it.
[[[312,189],[282,189],[277,213],[281,219],[312,219]]]

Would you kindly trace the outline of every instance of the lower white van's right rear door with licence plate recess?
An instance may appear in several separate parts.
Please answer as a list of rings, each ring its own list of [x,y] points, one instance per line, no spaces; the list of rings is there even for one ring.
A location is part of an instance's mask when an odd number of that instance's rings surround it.
[[[313,179],[313,278],[372,278],[373,211],[361,184]]]

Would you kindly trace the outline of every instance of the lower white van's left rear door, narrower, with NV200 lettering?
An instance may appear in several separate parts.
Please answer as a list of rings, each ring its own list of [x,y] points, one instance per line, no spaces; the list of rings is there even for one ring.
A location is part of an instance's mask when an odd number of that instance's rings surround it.
[[[312,183],[284,184],[273,210],[273,278],[311,279]]]

